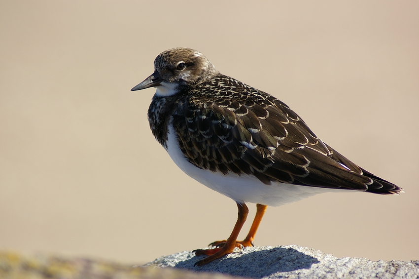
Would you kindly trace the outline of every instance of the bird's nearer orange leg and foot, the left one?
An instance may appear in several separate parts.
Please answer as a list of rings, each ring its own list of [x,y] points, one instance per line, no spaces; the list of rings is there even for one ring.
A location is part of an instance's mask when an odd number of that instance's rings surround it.
[[[239,236],[240,230],[242,229],[243,224],[246,221],[247,213],[249,213],[249,209],[244,203],[243,204],[237,203],[237,207],[239,208],[237,222],[236,222],[236,225],[234,225],[234,229],[233,229],[233,232],[231,232],[230,237],[226,240],[226,242],[221,248],[194,250],[193,252],[195,252],[195,255],[197,256],[210,255],[209,257],[196,262],[194,266],[196,265],[202,266],[202,265],[208,264],[209,262],[212,262],[215,259],[221,258],[222,256],[233,252],[234,248],[237,245],[236,244],[237,237]]]

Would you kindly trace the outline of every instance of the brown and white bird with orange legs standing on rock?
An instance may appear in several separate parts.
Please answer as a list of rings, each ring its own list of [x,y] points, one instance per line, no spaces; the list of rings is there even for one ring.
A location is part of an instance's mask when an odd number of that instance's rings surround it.
[[[154,73],[132,91],[155,87],[148,120],[156,140],[187,175],[233,199],[230,237],[212,242],[202,266],[253,246],[268,206],[325,192],[395,195],[403,189],[359,167],[321,141],[276,97],[220,74],[199,51],[176,47],[154,60]],[[237,240],[256,204],[250,231]]]

